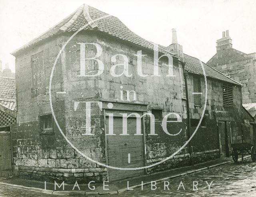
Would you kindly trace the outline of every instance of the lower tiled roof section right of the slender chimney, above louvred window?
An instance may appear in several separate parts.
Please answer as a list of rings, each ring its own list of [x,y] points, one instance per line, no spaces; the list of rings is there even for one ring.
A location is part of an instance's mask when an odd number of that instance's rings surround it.
[[[186,71],[191,72],[191,73],[201,74],[201,75],[204,74],[201,63],[200,63],[200,60],[197,59],[196,57],[192,57],[190,55],[184,54],[184,62],[186,63],[185,64]],[[241,85],[240,83],[234,81],[230,77],[227,77],[226,75],[217,71],[216,69],[214,69],[210,65],[208,65],[206,63],[203,63],[203,65],[204,65],[204,71],[205,71],[206,77],[211,77],[211,78],[214,78],[214,79],[218,79],[220,81],[225,81],[225,82],[228,82],[228,83]]]

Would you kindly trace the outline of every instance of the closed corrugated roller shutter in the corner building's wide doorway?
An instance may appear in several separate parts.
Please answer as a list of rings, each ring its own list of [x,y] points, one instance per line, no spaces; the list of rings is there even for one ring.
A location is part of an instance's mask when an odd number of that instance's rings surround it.
[[[108,116],[106,116],[106,133],[108,133],[108,126]],[[129,136],[120,136],[120,134],[122,134],[122,117],[114,117],[113,131],[116,136],[106,136],[108,165],[122,168],[144,166],[143,136],[134,136],[134,134],[136,134],[136,118],[127,119],[127,133],[130,134]],[[129,153],[130,164],[128,163]],[[127,179],[143,174],[144,169],[108,169],[109,181]]]

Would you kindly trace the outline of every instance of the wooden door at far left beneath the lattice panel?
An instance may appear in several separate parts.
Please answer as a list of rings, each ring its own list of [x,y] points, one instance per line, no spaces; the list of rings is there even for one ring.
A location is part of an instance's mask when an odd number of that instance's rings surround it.
[[[0,177],[12,175],[10,132],[0,132]]]

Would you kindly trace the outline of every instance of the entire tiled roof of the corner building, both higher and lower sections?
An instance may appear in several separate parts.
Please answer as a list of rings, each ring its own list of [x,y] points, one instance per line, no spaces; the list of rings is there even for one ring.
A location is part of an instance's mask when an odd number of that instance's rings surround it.
[[[84,27],[86,24],[87,26]],[[142,37],[136,35],[136,33],[129,30],[129,28],[127,28],[118,18],[110,16],[100,10],[97,10],[96,8],[84,4],[80,6],[70,16],[59,22],[56,26],[50,28],[47,32],[43,33],[36,39],[33,39],[20,49],[17,49],[12,54],[15,55],[15,53],[17,53],[18,51],[25,49],[43,39],[51,37],[52,35],[58,35],[63,32],[76,32],[81,28],[83,28],[84,30],[98,30],[100,32],[105,32],[112,36],[118,37],[119,39],[135,43],[142,47],[146,47],[152,50],[154,49],[154,44],[152,42],[147,41],[146,39],[143,39]],[[158,51],[161,53],[173,55],[170,51],[167,50],[166,47],[160,45]],[[184,61],[186,62],[187,71],[203,74],[198,59],[184,54]],[[210,67],[209,65],[206,65],[205,63],[204,68],[208,77],[213,77],[215,79],[240,85],[236,81],[226,77],[225,75]]]

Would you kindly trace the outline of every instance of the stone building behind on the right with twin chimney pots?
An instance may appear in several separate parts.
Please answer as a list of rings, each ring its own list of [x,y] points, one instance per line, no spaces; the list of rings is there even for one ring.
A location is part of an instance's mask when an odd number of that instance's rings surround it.
[[[234,49],[228,30],[216,43],[217,52],[207,63],[243,85],[243,106],[256,118],[256,53]]]

